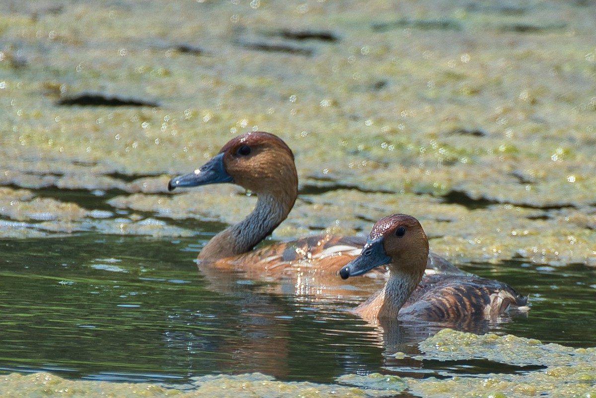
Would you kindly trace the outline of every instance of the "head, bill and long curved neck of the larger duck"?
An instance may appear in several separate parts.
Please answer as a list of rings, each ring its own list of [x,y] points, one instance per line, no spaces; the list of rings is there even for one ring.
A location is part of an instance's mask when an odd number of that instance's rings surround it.
[[[252,250],[286,219],[298,197],[294,154],[285,142],[266,132],[231,139],[194,172],[170,179],[167,190],[231,182],[252,191],[257,203],[241,222],[215,235],[198,259],[231,259]]]

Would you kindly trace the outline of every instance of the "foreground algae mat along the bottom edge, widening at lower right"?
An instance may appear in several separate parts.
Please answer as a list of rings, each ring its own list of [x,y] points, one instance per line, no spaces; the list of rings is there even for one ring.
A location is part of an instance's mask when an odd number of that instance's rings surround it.
[[[461,374],[445,378],[399,378],[380,374],[343,375],[337,384],[282,383],[253,373],[194,377],[185,385],[70,381],[51,374],[0,377],[3,396],[42,397],[390,397],[404,388],[424,397],[532,396],[590,397],[596,393],[596,349],[570,349],[558,344],[511,335],[476,335],[443,329],[420,343],[420,361],[454,363],[486,360],[493,368],[505,363],[519,366],[509,374]],[[403,355],[398,353],[398,355]],[[454,365],[457,366],[457,365]],[[524,368],[523,366],[526,366]],[[462,366],[463,369],[466,366]]]

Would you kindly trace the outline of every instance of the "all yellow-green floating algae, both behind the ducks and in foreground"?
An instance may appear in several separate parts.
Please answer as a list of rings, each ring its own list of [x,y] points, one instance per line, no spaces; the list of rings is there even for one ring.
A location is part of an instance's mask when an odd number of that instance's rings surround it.
[[[520,268],[557,277],[573,266],[581,267],[582,276],[583,265],[596,266],[594,2],[437,8],[414,1],[402,2],[399,15],[378,1],[350,7],[277,0],[128,3],[18,2],[0,15],[0,236],[10,238],[5,244],[89,232],[126,239],[191,237],[180,260],[190,261],[200,250],[195,237],[241,219],[254,196],[230,186],[168,194],[167,180],[203,164],[231,136],[260,129],[292,148],[302,187],[274,239],[362,235],[374,220],[404,212],[421,220],[434,253],[455,262],[501,265],[516,259]],[[382,21],[379,15],[385,15]],[[148,26],[151,37],[166,45],[147,42]],[[193,45],[197,38],[200,46]],[[173,52],[191,56],[172,57]],[[84,255],[87,246],[72,252]],[[18,272],[31,264],[24,258],[31,249],[24,247],[12,257]],[[142,256],[150,256],[148,247]],[[46,263],[48,251],[38,263]],[[63,262],[55,259],[57,269],[68,268]],[[101,264],[108,267],[88,270],[129,275]],[[122,269],[138,266],[135,260]],[[23,279],[20,273],[12,277]],[[76,278],[52,278],[52,284],[64,284],[62,290],[77,288],[76,282],[70,285]],[[578,278],[574,288],[589,296],[594,287],[585,279]],[[27,300],[39,293],[20,291]],[[551,300],[532,299],[533,309]],[[587,308],[591,301],[585,303]],[[52,322],[61,321],[55,309],[64,303],[58,304],[46,311]],[[560,305],[561,312],[568,308]],[[12,304],[7,310],[15,313]],[[14,341],[23,319],[5,322],[4,329],[14,329]],[[64,334],[64,325],[53,330]],[[163,338],[166,329],[154,335]],[[80,330],[67,335],[79,336]],[[358,375],[345,378],[350,386],[321,387],[251,374],[240,380],[199,378],[187,391],[13,374],[0,379],[0,394],[205,396],[210,387],[218,397],[275,391],[367,396],[375,393],[364,388],[369,383],[388,383],[382,393],[406,381],[421,396],[572,396],[572,388],[596,395],[592,349],[451,332],[430,341],[444,351],[433,354],[430,343],[417,360],[450,363],[457,376],[449,369],[436,371],[446,380],[371,381]],[[37,348],[43,341],[34,343]],[[165,341],[159,343],[168,350]],[[538,353],[544,361],[532,356]],[[507,372],[468,375],[461,362],[440,357],[460,354],[462,361],[507,365]]]

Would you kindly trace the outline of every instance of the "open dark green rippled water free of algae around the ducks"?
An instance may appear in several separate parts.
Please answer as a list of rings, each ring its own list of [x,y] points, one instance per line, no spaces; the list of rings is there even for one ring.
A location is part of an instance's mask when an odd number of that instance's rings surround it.
[[[241,276],[213,284],[193,262],[194,238],[88,233],[0,244],[2,371],[168,383],[255,371],[322,383],[350,373],[445,372],[439,362],[390,356],[417,352],[417,341],[440,328],[399,325],[380,337],[347,311],[354,303],[263,293]],[[527,317],[480,332],[596,346],[594,269],[508,262],[465,270],[508,282],[532,303]]]

